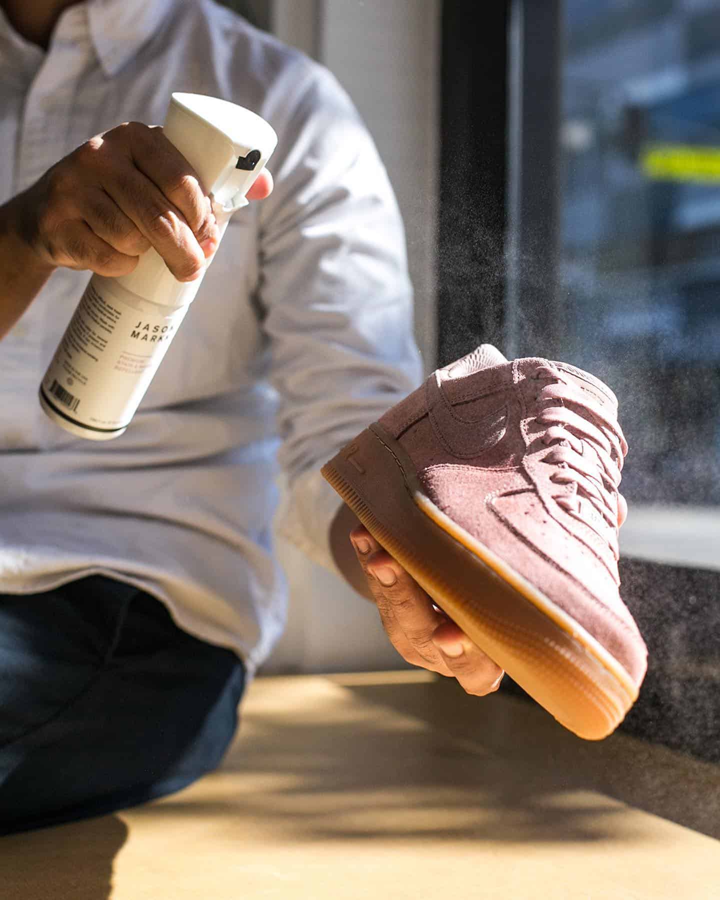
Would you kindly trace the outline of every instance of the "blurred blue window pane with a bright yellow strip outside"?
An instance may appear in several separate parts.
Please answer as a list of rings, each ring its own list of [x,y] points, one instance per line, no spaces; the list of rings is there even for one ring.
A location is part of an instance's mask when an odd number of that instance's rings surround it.
[[[566,0],[563,356],[621,399],[636,503],[720,502],[720,8]]]

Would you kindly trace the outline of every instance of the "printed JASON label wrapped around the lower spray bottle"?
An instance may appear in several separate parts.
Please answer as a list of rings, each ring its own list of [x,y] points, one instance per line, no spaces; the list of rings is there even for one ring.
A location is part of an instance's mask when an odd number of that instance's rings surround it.
[[[45,401],[90,430],[126,428],[187,310],[141,312],[91,279],[42,379]]]

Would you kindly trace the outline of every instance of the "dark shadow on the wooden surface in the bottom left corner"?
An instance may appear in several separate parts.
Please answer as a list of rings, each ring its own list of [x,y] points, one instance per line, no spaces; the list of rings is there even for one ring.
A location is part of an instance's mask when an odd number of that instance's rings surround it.
[[[3,900],[107,900],[112,865],[128,836],[115,815],[103,815],[0,837]]]

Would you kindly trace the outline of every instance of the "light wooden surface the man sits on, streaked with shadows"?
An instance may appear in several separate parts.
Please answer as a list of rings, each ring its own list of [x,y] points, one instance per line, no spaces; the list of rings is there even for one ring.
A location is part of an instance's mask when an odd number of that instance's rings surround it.
[[[3,900],[713,900],[720,770],[423,672],[253,684],[221,769],[0,839]]]

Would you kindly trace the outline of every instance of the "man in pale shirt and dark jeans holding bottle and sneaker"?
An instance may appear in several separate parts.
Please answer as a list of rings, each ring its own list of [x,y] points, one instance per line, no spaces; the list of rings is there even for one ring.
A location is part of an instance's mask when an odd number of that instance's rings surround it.
[[[406,660],[496,688],[320,478],[419,377],[401,223],[346,95],[209,0],[0,5],[0,830],[137,804],[220,761],[283,625],[276,455],[287,536],[374,599]],[[258,178],[266,199],[232,220],[127,434],[93,444],[36,396],[88,271],[127,273],[152,246],[191,280],[217,249],[202,184],[139,124],[173,91],[270,121],[275,190]]]

